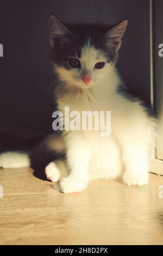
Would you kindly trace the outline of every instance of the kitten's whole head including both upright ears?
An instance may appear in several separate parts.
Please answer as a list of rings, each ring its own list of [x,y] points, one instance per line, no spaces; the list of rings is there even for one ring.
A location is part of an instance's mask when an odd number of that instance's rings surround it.
[[[52,59],[66,86],[90,88],[109,75],[126,26],[127,21],[123,21],[109,32],[105,26],[95,25],[67,25],[66,28],[51,15]]]

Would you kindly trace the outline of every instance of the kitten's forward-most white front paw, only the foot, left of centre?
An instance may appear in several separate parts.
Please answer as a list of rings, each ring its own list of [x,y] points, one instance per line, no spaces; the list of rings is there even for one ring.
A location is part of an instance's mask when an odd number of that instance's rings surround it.
[[[63,178],[60,180],[60,190],[62,193],[75,193],[85,190],[87,187],[86,182],[74,180],[71,178]]]

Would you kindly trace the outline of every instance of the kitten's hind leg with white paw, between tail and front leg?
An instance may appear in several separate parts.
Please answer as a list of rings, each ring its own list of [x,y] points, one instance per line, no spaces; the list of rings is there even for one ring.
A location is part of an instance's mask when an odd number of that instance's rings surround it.
[[[67,176],[67,169],[65,162],[62,160],[54,161],[48,164],[45,168],[45,174],[48,180],[58,182],[60,178]]]

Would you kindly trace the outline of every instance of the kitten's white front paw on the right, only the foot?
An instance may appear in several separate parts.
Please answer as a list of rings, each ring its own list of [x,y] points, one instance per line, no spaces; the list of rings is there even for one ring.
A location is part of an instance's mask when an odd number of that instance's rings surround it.
[[[148,184],[148,173],[147,172],[126,172],[123,175],[123,181],[126,185],[142,186]]]

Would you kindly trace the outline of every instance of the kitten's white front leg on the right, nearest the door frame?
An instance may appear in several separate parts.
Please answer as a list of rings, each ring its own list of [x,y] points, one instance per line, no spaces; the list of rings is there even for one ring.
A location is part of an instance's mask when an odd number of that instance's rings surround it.
[[[136,138],[128,138],[122,145],[125,172],[123,181],[127,185],[145,185],[148,183],[148,150],[145,144]]]

